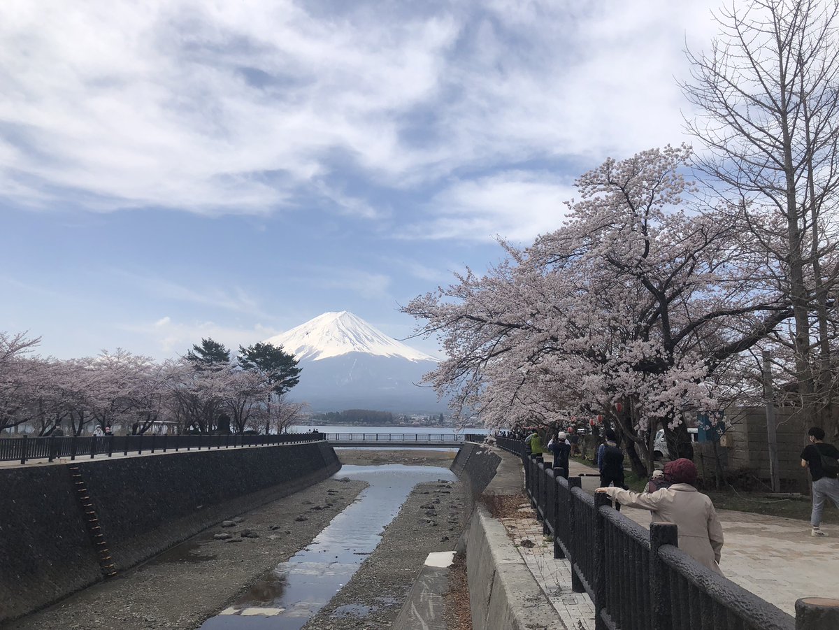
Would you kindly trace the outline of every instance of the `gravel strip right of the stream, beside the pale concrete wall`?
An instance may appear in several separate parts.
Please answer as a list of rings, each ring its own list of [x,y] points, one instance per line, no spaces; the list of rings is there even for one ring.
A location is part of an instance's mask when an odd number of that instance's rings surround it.
[[[303,630],[393,627],[427,555],[455,549],[464,524],[464,505],[460,482],[414,487],[373,554]]]

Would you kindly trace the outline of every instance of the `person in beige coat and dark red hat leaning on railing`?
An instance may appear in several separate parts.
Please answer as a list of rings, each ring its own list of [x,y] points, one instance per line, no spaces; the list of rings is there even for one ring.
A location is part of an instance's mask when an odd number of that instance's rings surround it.
[[[722,524],[711,498],[696,490],[696,465],[687,459],[664,465],[670,487],[638,494],[619,487],[597,488],[621,505],[644,508],[653,513],[654,523],[674,523],[679,528],[679,549],[701,565],[722,575]]]

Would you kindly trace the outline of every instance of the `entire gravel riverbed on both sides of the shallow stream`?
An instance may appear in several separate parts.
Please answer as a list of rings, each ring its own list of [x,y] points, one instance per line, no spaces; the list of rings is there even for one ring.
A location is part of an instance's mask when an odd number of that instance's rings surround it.
[[[455,456],[454,451],[419,449],[337,453],[347,465],[446,468]],[[338,472],[242,513],[232,527],[207,529],[153,560],[0,630],[195,630],[310,544],[365,487],[365,482],[347,480]],[[373,554],[305,630],[392,627],[426,556],[455,549],[468,517],[465,509],[460,482],[414,487]],[[218,534],[229,538],[216,539]]]

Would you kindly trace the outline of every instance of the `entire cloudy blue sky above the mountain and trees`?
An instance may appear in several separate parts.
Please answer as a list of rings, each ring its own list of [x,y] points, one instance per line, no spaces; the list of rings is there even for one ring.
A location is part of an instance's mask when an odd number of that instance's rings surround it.
[[[685,141],[716,5],[5,0],[0,331],[408,336],[399,305],[559,226],[577,175]]]

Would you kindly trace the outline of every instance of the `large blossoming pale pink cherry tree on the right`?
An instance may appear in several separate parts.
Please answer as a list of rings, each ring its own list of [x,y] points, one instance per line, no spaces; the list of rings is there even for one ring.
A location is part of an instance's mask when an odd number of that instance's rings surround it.
[[[510,426],[607,410],[648,459],[659,424],[692,456],[683,419],[717,408],[709,375],[791,310],[731,213],[681,199],[689,159],[668,147],[607,160],[577,180],[560,229],[502,243],[487,274],[404,308],[425,321],[417,334],[442,336],[448,358],[428,378],[456,414]]]

